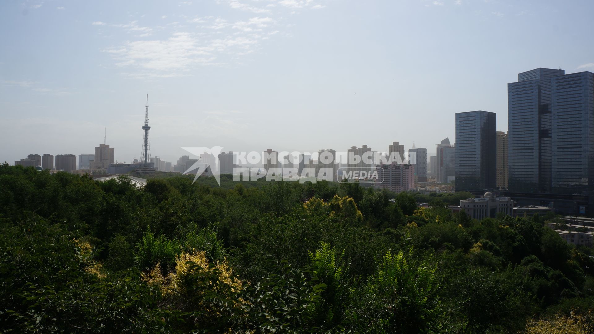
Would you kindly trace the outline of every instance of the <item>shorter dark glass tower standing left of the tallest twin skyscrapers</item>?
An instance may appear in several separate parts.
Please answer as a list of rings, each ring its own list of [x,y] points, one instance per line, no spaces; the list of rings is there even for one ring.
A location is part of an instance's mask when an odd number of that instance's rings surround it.
[[[492,190],[497,184],[497,114],[456,113],[456,191]]]

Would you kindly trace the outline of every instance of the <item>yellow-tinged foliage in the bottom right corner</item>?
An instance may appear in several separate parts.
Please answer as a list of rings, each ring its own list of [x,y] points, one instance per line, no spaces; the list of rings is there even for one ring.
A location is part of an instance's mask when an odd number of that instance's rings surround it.
[[[593,330],[594,326],[574,311],[571,311],[570,316],[530,320],[526,326],[527,334],[590,334]]]

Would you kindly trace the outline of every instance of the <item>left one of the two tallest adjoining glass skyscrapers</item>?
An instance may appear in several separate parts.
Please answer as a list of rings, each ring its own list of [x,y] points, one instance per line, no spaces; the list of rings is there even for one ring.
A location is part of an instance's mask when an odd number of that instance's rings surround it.
[[[536,68],[507,84],[508,189],[551,191],[551,79],[564,70]]]

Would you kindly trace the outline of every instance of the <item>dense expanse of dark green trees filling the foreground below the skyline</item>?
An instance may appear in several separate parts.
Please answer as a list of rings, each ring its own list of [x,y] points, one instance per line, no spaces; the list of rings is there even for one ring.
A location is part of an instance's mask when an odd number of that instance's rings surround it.
[[[549,229],[563,223],[552,214],[478,221],[447,208],[469,193],[221,181],[157,173],[138,189],[127,177],[0,165],[0,331],[516,333],[592,322],[594,251]]]

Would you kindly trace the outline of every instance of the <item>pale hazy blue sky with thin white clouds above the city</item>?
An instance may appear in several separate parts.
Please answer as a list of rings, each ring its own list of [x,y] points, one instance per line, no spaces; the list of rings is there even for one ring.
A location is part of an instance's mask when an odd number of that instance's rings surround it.
[[[0,160],[225,151],[386,151],[455,138],[538,67],[594,71],[594,2],[0,2]]]

